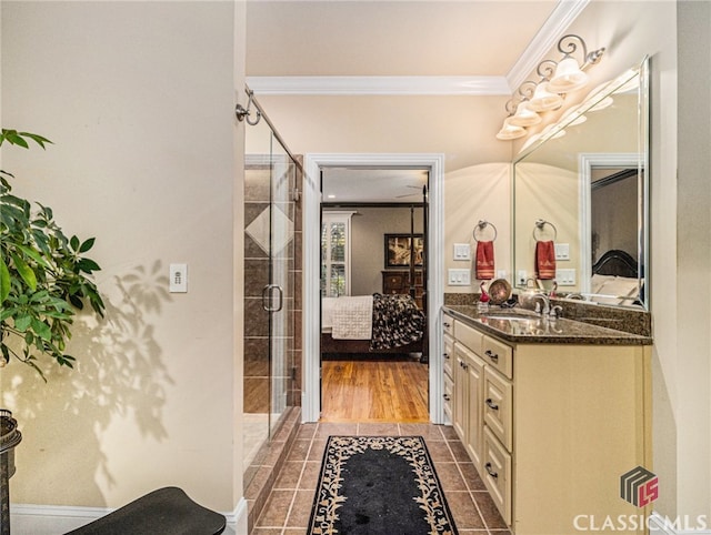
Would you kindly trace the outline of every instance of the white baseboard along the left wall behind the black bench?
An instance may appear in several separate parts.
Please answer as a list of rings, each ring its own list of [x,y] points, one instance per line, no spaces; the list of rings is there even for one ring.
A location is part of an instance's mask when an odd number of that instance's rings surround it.
[[[12,535],[57,535],[89,524],[109,513],[107,507],[74,507],[64,505],[10,505]],[[241,498],[227,518],[227,534],[248,535],[247,499]]]

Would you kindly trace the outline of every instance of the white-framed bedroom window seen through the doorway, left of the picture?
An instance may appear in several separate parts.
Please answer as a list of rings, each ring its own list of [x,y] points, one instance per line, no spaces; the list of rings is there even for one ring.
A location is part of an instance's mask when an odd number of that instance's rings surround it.
[[[323,212],[321,218],[321,296],[351,293],[352,212]]]

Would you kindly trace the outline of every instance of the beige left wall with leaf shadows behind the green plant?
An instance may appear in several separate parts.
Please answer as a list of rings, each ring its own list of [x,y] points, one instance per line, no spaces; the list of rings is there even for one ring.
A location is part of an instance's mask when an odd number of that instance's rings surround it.
[[[23,434],[16,503],[116,507],[177,485],[232,511],[241,496],[240,17],[231,2],[2,2],[2,125],[54,142],[3,147],[3,166],[67,232],[97,236],[107,302],[106,321],[78,319],[76,371],[50,367],[47,385],[1,372]],[[189,265],[187,294],[168,293],[171,262]]]

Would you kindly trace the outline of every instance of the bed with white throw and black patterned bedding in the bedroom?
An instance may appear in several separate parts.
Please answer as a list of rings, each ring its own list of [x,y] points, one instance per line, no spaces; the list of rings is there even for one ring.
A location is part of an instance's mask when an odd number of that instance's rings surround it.
[[[425,353],[427,321],[410,295],[323,297],[321,353]]]

